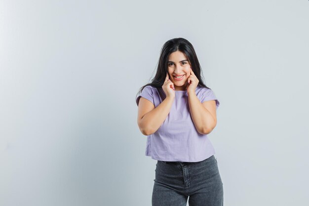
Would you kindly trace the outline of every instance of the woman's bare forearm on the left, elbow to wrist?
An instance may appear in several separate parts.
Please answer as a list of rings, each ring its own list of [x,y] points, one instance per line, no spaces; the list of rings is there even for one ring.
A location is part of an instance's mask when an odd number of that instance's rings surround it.
[[[153,134],[165,121],[169,114],[174,97],[166,97],[156,108],[144,115],[141,120],[143,134]]]

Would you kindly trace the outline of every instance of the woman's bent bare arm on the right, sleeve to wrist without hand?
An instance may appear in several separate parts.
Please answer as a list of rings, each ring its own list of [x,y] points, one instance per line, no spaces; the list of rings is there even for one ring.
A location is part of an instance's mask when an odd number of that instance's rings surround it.
[[[216,101],[201,103],[195,92],[188,93],[189,107],[193,123],[201,134],[209,134],[217,124]]]

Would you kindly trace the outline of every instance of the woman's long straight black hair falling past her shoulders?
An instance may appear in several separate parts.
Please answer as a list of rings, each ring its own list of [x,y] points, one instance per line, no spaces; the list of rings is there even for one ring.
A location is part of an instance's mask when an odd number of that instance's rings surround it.
[[[157,89],[162,89],[162,85],[164,83],[164,80],[166,78],[166,73],[167,73],[168,57],[171,53],[175,51],[181,51],[188,57],[193,73],[195,74],[195,76],[197,77],[199,81],[198,85],[200,85],[201,87],[209,88],[204,84],[202,80],[202,77],[203,77],[201,76],[202,70],[200,68],[193,45],[184,38],[174,38],[169,41],[166,41],[164,45],[162,46],[154,79],[152,80],[151,83],[148,83],[142,86],[140,90],[138,91],[137,95],[144,89],[145,86],[148,86],[148,85],[154,86]]]

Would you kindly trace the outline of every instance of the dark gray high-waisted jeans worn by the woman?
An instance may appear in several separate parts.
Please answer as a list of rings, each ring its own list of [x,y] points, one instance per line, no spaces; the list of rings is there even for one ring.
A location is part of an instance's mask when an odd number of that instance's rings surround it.
[[[157,161],[152,206],[223,206],[217,160],[196,163]]]

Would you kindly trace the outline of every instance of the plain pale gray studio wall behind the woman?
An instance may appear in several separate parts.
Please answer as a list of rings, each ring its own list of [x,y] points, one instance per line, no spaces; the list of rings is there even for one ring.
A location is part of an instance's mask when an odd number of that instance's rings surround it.
[[[193,43],[225,206],[308,205],[309,1],[0,0],[0,206],[151,206],[135,95]]]

